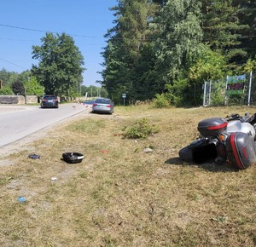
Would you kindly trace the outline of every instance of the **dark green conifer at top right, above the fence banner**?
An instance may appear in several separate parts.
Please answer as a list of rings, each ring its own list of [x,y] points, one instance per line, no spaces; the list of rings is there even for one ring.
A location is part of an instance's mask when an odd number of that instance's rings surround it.
[[[237,71],[247,60],[247,51],[241,48],[241,33],[247,29],[238,17],[239,6],[233,0],[203,0],[204,42],[213,51],[225,56],[228,69]]]

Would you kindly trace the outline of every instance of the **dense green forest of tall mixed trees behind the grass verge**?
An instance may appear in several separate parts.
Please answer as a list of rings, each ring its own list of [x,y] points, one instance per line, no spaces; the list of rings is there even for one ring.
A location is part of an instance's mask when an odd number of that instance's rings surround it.
[[[202,85],[256,67],[256,2],[119,0],[102,55],[114,101],[201,105]]]

